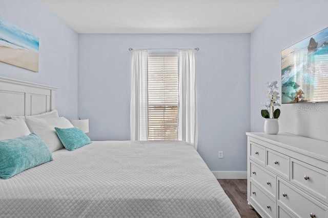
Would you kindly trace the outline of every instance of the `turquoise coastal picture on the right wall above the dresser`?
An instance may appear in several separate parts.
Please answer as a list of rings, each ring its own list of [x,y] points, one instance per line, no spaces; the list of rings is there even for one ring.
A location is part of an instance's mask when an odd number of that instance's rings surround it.
[[[328,28],[281,51],[281,103],[328,101]]]

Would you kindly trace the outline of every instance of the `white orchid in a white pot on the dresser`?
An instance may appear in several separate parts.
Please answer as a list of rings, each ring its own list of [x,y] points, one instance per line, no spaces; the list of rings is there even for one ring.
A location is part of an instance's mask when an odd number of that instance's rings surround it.
[[[266,110],[261,110],[261,115],[264,118],[264,132],[267,134],[277,134],[279,132],[278,118],[280,116],[280,109],[275,109],[274,107],[280,106],[278,103],[279,92],[276,91],[277,81],[268,82],[266,84],[268,100],[264,103],[261,103],[263,106],[267,107]]]

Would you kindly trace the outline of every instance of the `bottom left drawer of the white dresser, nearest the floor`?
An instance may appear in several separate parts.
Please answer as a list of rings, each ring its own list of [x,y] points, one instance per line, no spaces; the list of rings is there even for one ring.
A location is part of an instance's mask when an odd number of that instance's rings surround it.
[[[265,193],[254,183],[251,184],[251,199],[259,205],[262,211],[268,217],[276,217],[276,202],[269,198]]]

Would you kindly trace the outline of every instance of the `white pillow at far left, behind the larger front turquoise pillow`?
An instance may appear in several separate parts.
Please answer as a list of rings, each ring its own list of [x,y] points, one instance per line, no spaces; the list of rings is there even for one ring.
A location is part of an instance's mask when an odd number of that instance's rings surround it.
[[[19,138],[30,133],[22,118],[0,120],[0,140]]]

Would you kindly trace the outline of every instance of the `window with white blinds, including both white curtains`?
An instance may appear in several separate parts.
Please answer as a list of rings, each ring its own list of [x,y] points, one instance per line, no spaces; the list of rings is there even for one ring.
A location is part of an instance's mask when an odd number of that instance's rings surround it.
[[[132,52],[131,140],[180,140],[197,149],[195,50],[159,51]]]

